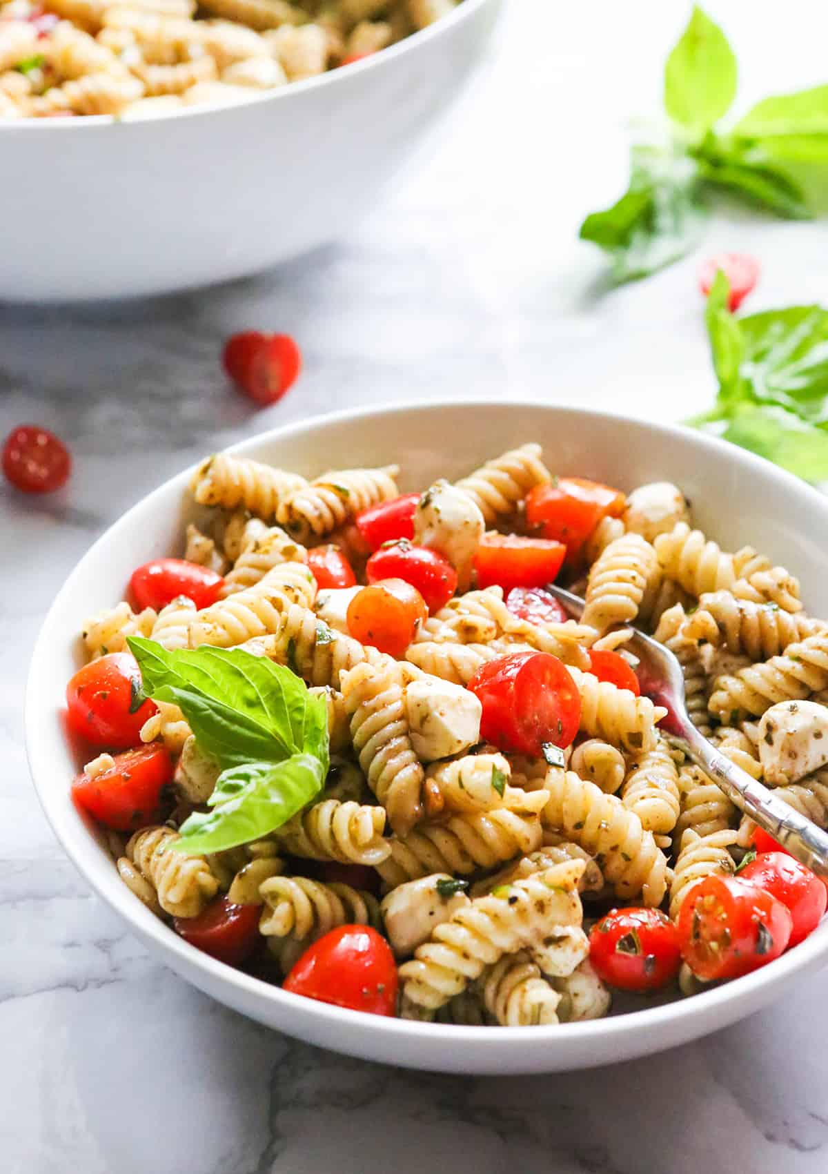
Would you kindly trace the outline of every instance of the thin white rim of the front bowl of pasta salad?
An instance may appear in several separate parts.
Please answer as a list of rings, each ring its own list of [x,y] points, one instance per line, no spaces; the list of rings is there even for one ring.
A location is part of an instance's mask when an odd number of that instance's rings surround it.
[[[355,409],[345,409],[338,412],[315,416],[283,427],[270,429],[267,432],[248,437],[247,439],[229,446],[224,451],[234,454],[244,454],[249,450],[256,450],[265,446],[274,439],[283,441],[302,432],[312,432],[321,424],[328,425],[345,423],[366,416],[392,417],[409,411],[456,409],[458,406],[467,406],[471,410],[477,411],[485,411],[492,406],[507,406],[514,411],[541,407],[552,414],[565,413],[570,416],[581,416],[585,423],[594,418],[610,418],[618,421],[621,426],[632,425],[635,427],[644,427],[655,436],[661,434],[665,438],[671,437],[673,439],[678,436],[681,437],[682,441],[695,445],[701,450],[706,450],[713,459],[728,460],[738,466],[741,465],[746,468],[761,472],[761,474],[770,483],[775,481],[786,485],[789,490],[801,494],[805,499],[805,504],[810,504],[812,508],[816,508],[817,512],[821,512],[828,521],[828,501],[821,493],[801,481],[799,478],[794,477],[792,473],[788,473],[785,470],[772,465],[763,458],[754,456],[753,453],[739,448],[735,445],[731,445],[705,433],[693,432],[692,430],[681,427],[680,425],[652,423],[640,417],[625,416],[620,412],[603,409],[550,404],[540,398],[509,400],[507,404],[492,399],[474,398],[453,398],[449,400],[425,402],[406,400],[390,405],[373,404]],[[144,925],[139,915],[146,913],[146,910],[143,910],[143,908],[134,900],[133,895],[126,886],[123,888],[123,899],[113,903],[109,895],[105,893],[102,889],[99,888],[93,870],[87,870],[85,849],[80,848],[75,851],[74,845],[70,843],[67,844],[61,835],[62,818],[60,816],[55,817],[55,812],[51,810],[52,803],[49,798],[49,788],[48,785],[43,785],[40,781],[48,778],[53,769],[48,761],[48,754],[43,754],[41,758],[41,750],[38,740],[41,714],[39,711],[35,696],[39,676],[43,672],[48,672],[51,646],[46,642],[46,629],[48,628],[52,613],[59,608],[63,593],[68,592],[74,580],[85,573],[87,565],[95,560],[95,554],[99,547],[108,541],[109,534],[115,528],[120,529],[121,527],[127,526],[129,519],[134,514],[143,512],[154,498],[162,498],[169,493],[174,486],[184,490],[188,479],[197,467],[197,464],[198,463],[169,478],[157,488],[146,494],[110,527],[108,527],[107,531],[93,544],[93,546],[89,547],[87,553],[65,580],[52,607],[46,614],[41,632],[35,641],[26,686],[26,751],[32,780],[46,818],[63,851],[69,856],[81,876],[94,889],[105,904],[113,908],[115,912],[127,922],[132,931],[136,933],[137,937],[143,940],[152,940],[159,952],[171,954],[174,958],[180,959],[184,971],[190,969],[202,971],[207,977],[214,980],[211,984],[213,986],[227,986],[235,989],[241,996],[248,996],[248,1003],[250,1000],[258,1001],[262,999],[265,1001],[272,1000],[276,1005],[281,1004],[285,1011],[290,1011],[292,1008],[294,1011],[301,1012],[301,1017],[317,1019],[317,1021],[321,1021],[325,1028],[330,1027],[330,1046],[334,1048],[336,1048],[336,1028],[337,1026],[343,1025],[349,1025],[361,1033],[366,1032],[371,1034],[378,1032],[382,1033],[388,1040],[393,1041],[393,1039],[398,1039],[400,1043],[410,1038],[424,1039],[425,1041],[433,1040],[435,1043],[455,1041],[460,1046],[464,1041],[470,1044],[472,1041],[485,1041],[492,1057],[491,1071],[497,1071],[498,1053],[511,1053],[512,1048],[518,1043],[521,1045],[523,1053],[526,1055],[529,1055],[529,1053],[533,1054],[539,1050],[553,1046],[556,1040],[564,1044],[565,1041],[574,1041],[577,1039],[579,1043],[583,1041],[585,1045],[584,1050],[588,1051],[591,1040],[600,1039],[601,1041],[611,1041],[613,1039],[622,1040],[632,1035],[641,1037],[641,1033],[646,1033],[648,1028],[657,1028],[668,1023],[673,1025],[681,1025],[696,1017],[709,1023],[715,1019],[715,1013],[718,1011],[722,1011],[725,1007],[734,1003],[738,1004],[746,1001],[749,1004],[752,1001],[750,996],[759,997],[760,992],[763,992],[767,996],[767,998],[762,998],[760,1001],[768,1001],[770,992],[781,989],[788,979],[796,974],[805,976],[826,964],[828,960],[828,918],[823,918],[822,924],[808,938],[806,938],[805,942],[800,943],[788,953],[782,954],[781,958],[776,958],[770,965],[760,967],[742,978],[723,983],[721,986],[713,987],[709,991],[704,991],[692,998],[676,999],[675,1001],[660,1006],[644,1007],[640,1011],[630,1011],[619,1016],[583,1023],[559,1024],[556,1026],[537,1026],[531,1031],[527,1031],[525,1027],[497,1027],[493,1030],[492,1027],[455,1026],[447,1024],[419,1023],[384,1016],[371,1016],[359,1011],[351,1011],[345,1007],[337,1007],[331,1004],[319,1003],[314,999],[307,999],[303,996],[292,994],[289,991],[282,990],[280,986],[275,986],[263,979],[254,978],[242,971],[235,970],[231,966],[216,962],[208,954],[188,945],[161,920],[155,920],[152,924],[152,927],[149,925]],[[49,716],[54,717],[53,714]],[[80,816],[76,818],[80,822]],[[86,829],[85,835],[87,838],[79,839],[79,844],[82,845],[88,843],[90,851],[94,850],[96,848],[95,842]],[[238,1003],[236,1003],[236,1005],[238,1005]],[[738,1018],[738,1014],[733,1016],[733,1019]],[[723,1021],[729,1023],[732,1020],[727,1017]],[[698,1034],[704,1035],[711,1030],[712,1028],[709,1026],[702,1026]],[[301,1034],[301,1032],[297,1034]],[[655,1050],[658,1050],[659,1046],[668,1045],[659,1045],[657,1043],[654,1046]],[[402,1053],[398,1062],[405,1064],[405,1059]],[[595,1062],[604,1061],[598,1060]],[[573,1067],[574,1066],[577,1065],[573,1065]],[[585,1066],[588,1066],[588,1061]],[[537,1070],[532,1070],[527,1066],[526,1071]]]

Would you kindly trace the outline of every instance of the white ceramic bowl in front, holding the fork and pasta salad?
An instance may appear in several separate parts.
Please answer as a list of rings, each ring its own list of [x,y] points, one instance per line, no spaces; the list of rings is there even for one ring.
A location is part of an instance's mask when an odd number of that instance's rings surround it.
[[[450,439],[449,439],[450,438]],[[676,481],[699,525],[731,549],[750,542],[794,571],[816,615],[828,615],[828,501],[739,448],[675,427],[540,404],[433,404],[329,416],[265,433],[234,448],[315,474],[396,460],[402,488],[458,477],[483,458],[539,440],[550,467],[624,488]],[[447,441],[447,443],[446,443]],[[443,1072],[551,1072],[626,1060],[714,1031],[756,1011],[796,976],[828,962],[828,919],[810,937],[746,978],[695,998],[558,1027],[450,1027],[359,1014],[285,993],[188,946],[121,883],[69,799],[75,770],[60,711],[80,663],[76,633],[121,599],[139,564],[180,549],[189,472],[139,502],[89,551],[63,585],[38,639],[26,699],[32,775],[58,838],[96,892],[147,947],[228,1006],[312,1044],[371,1060]],[[773,1012],[770,1012],[773,1013]]]

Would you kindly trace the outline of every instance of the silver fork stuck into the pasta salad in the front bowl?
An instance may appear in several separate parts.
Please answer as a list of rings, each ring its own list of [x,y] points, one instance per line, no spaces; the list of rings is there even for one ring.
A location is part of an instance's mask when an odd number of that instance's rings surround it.
[[[546,589],[573,619],[580,619],[584,600],[579,595],[554,583],[550,583]],[[685,677],[678,660],[652,636],[638,628],[633,628],[633,632],[635,634],[630,646],[640,660],[637,672],[641,693],[667,710],[660,729],[721,787],[741,811],[783,844],[797,861],[817,876],[828,878],[828,835],[702,737],[687,716]]]

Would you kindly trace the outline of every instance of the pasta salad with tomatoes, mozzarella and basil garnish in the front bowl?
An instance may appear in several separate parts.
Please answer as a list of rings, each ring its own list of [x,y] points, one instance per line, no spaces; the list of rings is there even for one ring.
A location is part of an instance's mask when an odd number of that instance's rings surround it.
[[[826,828],[828,625],[796,579],[675,485],[537,444],[398,473],[215,454],[183,558],[85,625],[73,796],[135,898],[288,991],[445,1024],[598,1018],[802,940],[824,885],[684,761],[627,649],[653,632],[694,723]]]

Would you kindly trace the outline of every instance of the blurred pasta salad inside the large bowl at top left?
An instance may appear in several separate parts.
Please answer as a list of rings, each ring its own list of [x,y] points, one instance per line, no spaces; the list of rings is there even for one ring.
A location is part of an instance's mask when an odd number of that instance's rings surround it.
[[[457,4],[0,0],[0,121],[225,106],[377,53]]]

